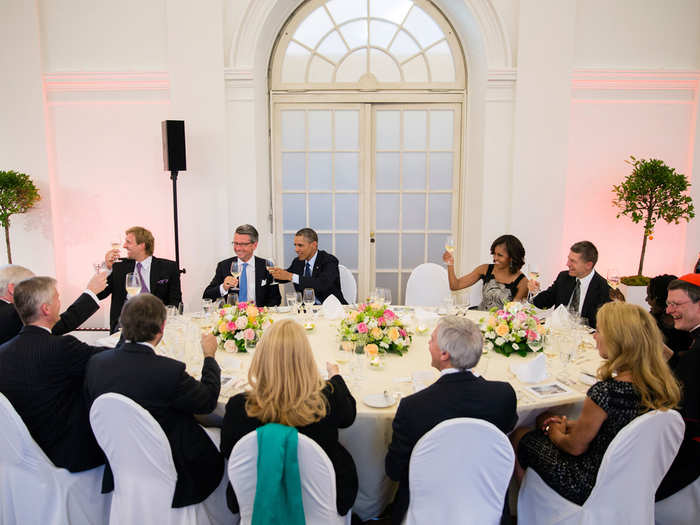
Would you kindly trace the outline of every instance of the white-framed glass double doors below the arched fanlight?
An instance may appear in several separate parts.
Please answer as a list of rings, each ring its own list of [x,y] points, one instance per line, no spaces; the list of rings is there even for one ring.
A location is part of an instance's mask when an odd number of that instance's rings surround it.
[[[459,238],[456,104],[273,104],[277,253],[305,226],[358,281],[402,304],[410,272]],[[279,234],[281,233],[281,235]]]

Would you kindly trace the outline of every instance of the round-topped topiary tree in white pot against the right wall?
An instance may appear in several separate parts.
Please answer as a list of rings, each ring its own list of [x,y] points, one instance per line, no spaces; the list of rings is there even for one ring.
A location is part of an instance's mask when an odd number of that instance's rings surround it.
[[[637,275],[623,277],[621,282],[627,285],[627,300],[644,305],[646,286],[649,284],[649,278],[642,274],[644,255],[647,240],[654,238],[654,226],[659,219],[669,224],[678,224],[681,220],[688,222],[695,217],[695,208],[687,194],[690,183],[682,173],[676,173],[675,169],[658,159],[630,156],[625,162],[632,166],[632,173],[622,183],[613,186],[613,204],[619,209],[618,218],[626,215],[635,224],[641,222],[644,231]],[[633,287],[643,288],[634,290]]]

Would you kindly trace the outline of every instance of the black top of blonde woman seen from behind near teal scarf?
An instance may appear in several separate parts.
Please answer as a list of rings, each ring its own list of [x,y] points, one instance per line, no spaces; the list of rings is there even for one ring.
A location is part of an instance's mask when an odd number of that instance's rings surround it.
[[[338,441],[338,429],[347,428],[355,421],[355,398],[340,375],[333,376],[322,390],[328,400],[326,416],[310,425],[297,427],[302,434],[318,443],[328,455],[335,470],[336,508],[344,516],[352,508],[357,497],[358,480],[355,462],[350,453]],[[221,428],[221,452],[228,458],[238,441],[262,426],[258,419],[248,417],[245,411],[246,395],[237,394],[226,403],[226,414]],[[229,483],[226,499],[231,512],[238,512],[238,501]]]

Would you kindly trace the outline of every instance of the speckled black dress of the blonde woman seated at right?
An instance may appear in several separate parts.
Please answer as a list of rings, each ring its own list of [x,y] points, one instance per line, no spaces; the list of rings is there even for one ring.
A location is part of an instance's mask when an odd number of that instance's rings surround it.
[[[587,395],[608,417],[586,452],[572,456],[557,448],[540,429],[525,434],[518,446],[520,465],[534,469],[550,488],[577,505],[583,505],[590,496],[610,442],[641,413],[641,398],[632,383],[599,381],[588,389]]]

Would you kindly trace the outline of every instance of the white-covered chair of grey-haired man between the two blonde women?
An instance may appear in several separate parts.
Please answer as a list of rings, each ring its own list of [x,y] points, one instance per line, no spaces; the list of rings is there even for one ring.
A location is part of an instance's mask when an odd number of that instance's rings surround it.
[[[508,438],[491,423],[443,421],[411,453],[404,524],[498,525],[514,464]]]

